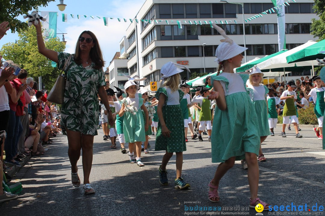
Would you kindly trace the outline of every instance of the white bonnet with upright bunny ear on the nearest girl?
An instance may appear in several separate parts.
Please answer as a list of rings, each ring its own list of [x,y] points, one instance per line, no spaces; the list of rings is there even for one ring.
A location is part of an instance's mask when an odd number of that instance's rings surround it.
[[[215,50],[215,62],[220,64],[222,61],[235,57],[239,55],[243,51],[247,50],[246,47],[241,47],[237,45],[233,40],[231,40],[225,33],[225,31],[217,26],[216,24],[212,24],[212,26],[225,38],[220,40],[222,43]]]

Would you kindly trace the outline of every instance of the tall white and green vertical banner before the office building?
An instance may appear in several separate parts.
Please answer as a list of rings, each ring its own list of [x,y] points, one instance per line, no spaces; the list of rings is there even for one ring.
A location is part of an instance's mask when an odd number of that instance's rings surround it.
[[[286,49],[285,44],[285,11],[284,11],[284,0],[272,0],[272,3],[277,7],[278,16],[278,44],[279,50]]]

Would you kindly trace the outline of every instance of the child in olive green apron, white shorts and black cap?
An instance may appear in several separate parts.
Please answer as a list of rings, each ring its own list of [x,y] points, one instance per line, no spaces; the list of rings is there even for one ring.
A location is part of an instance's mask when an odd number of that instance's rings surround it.
[[[285,134],[285,128],[287,124],[290,123],[290,119],[292,121],[294,130],[296,131],[296,138],[302,138],[303,136],[299,134],[298,132],[298,118],[297,118],[297,113],[296,113],[296,107],[294,105],[294,102],[297,99],[297,94],[294,91],[294,88],[297,86],[295,85],[294,81],[291,80],[287,84],[288,89],[283,91],[280,100],[283,100],[284,102],[284,107],[283,107],[283,124],[282,124],[282,132],[281,135],[282,137],[286,137]]]

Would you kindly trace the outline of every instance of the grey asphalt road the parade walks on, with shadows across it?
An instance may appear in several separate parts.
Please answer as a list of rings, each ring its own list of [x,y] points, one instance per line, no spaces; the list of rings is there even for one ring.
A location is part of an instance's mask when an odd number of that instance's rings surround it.
[[[318,213],[325,205],[324,168],[325,151],[321,140],[312,129],[302,128],[303,138],[295,138],[293,131],[287,137],[269,136],[262,144],[266,162],[260,167],[259,197],[275,205],[295,205],[297,215]],[[235,131],[234,131],[235,132]],[[231,133],[231,131],[229,131]],[[220,202],[208,200],[207,184],[212,179],[217,164],[211,163],[211,145],[207,135],[204,142],[189,139],[184,152],[183,178],[191,185],[188,190],[174,189],[175,154],[167,165],[169,185],[158,181],[158,168],[163,152],[154,152],[155,136],[150,136],[149,154],[141,154],[144,167],[129,163],[127,154],[110,149],[110,141],[102,140],[103,132],[98,130],[94,140],[94,159],[91,184],[96,189],[93,195],[84,195],[81,185],[71,184],[71,170],[67,155],[66,136],[54,138],[45,155],[32,158],[17,176],[23,176],[23,191],[19,199],[0,204],[1,215],[255,215],[249,205],[247,171],[236,162],[222,178],[219,186]],[[79,160],[79,176],[83,181],[82,162]],[[21,174],[21,172],[23,172]],[[15,179],[15,177],[14,177]],[[19,180],[17,180],[19,181]],[[291,204],[293,203],[293,204]],[[312,211],[312,207],[318,212]],[[305,210],[298,211],[303,205]],[[211,207],[217,210],[190,211],[191,207]],[[186,210],[189,208],[189,210]],[[231,210],[232,208],[232,210]],[[239,209],[239,210],[237,210]],[[242,210],[243,209],[243,210]],[[310,209],[311,211],[308,211]],[[294,210],[294,209],[293,209]],[[262,212],[264,215],[287,212]]]

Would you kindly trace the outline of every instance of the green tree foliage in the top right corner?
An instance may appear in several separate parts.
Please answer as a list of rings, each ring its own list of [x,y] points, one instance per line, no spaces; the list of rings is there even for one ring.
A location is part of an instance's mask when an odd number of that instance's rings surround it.
[[[325,1],[315,0],[314,10],[317,12],[319,19],[312,19],[310,26],[311,34],[319,37],[319,40],[325,39]]]

